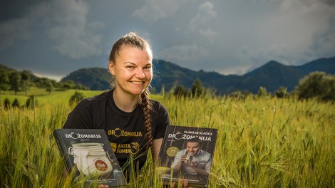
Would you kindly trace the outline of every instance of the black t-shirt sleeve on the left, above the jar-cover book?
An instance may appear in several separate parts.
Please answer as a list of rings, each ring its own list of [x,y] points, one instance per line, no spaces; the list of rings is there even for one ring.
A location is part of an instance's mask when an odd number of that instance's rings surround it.
[[[81,100],[78,105],[68,114],[64,129],[91,129],[93,128],[92,109],[88,100]]]

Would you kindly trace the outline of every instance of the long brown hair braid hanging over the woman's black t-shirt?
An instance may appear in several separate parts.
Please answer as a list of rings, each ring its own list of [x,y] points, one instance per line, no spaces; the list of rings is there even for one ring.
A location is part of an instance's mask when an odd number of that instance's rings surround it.
[[[140,105],[143,108],[144,121],[143,125],[145,127],[146,133],[145,138],[147,141],[147,149],[151,149],[151,155],[154,160],[154,149],[153,149],[153,126],[151,125],[151,111],[153,110],[153,104],[149,100],[149,90],[146,89],[140,95]]]

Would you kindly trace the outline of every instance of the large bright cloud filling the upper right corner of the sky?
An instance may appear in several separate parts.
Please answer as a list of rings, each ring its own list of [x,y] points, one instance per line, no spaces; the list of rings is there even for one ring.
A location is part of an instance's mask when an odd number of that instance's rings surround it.
[[[257,68],[271,60],[301,65],[334,56],[335,6],[331,1],[255,0],[272,4],[272,14],[262,17],[254,29],[255,41],[234,54],[239,64]]]

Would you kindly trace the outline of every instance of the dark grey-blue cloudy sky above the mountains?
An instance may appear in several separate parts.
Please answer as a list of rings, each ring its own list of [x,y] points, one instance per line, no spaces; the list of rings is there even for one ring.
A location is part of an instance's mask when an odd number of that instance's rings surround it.
[[[60,80],[107,68],[135,31],[155,59],[242,75],[269,61],[299,66],[335,56],[334,0],[1,0],[0,63]]]

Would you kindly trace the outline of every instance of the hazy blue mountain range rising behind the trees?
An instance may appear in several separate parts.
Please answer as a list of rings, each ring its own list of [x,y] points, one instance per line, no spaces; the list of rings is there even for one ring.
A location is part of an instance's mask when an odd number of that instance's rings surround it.
[[[260,86],[273,93],[281,86],[287,87],[288,91],[294,90],[301,78],[314,71],[324,71],[334,75],[335,57],[320,58],[302,66],[285,66],[277,61],[269,61],[264,66],[244,75],[192,71],[163,60],[153,61],[153,68],[154,78],[151,85],[157,92],[160,92],[163,85],[165,90],[170,90],[175,83],[191,88],[195,79],[199,78],[206,88],[215,88],[217,93],[228,94],[235,90],[257,93]],[[105,90],[110,88],[108,78],[109,73],[105,68],[82,68],[67,75],[61,81],[73,80],[91,90]]]

